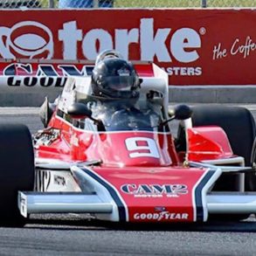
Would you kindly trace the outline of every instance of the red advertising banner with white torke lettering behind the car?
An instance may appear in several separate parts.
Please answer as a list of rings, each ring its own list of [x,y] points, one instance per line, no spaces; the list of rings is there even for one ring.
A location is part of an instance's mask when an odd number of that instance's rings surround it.
[[[256,10],[1,10],[0,57],[153,61],[171,85],[256,85]]]

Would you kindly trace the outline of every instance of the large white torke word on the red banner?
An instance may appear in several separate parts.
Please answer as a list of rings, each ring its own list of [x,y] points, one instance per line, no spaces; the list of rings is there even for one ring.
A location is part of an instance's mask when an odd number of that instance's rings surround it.
[[[129,45],[137,44],[141,49],[141,60],[154,61],[156,57],[159,62],[172,62],[176,59],[181,63],[190,63],[199,58],[197,49],[202,45],[200,37],[200,33],[189,27],[177,30],[170,27],[156,29],[153,17],[141,18],[137,28],[114,29],[114,35],[99,28],[83,34],[76,21],[63,24],[63,29],[59,30],[64,59],[77,59],[77,45],[81,42],[86,59],[96,59],[103,50],[114,49],[114,45],[128,59]]]

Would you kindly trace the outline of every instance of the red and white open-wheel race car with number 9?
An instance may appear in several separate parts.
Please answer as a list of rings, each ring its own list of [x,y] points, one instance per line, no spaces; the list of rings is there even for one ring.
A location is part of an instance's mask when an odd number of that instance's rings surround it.
[[[106,55],[96,66],[120,59]],[[111,97],[113,74],[107,82],[99,70],[68,77],[55,103],[46,99],[40,108],[45,128],[33,142],[24,125],[1,125],[3,224],[24,224],[31,213],[176,223],[256,212],[252,114],[244,107],[169,108],[167,73],[152,63],[134,66],[132,96]],[[122,81],[129,82],[129,68],[118,69]],[[113,86],[111,95],[93,93],[95,85]],[[130,89],[127,83],[121,93]]]

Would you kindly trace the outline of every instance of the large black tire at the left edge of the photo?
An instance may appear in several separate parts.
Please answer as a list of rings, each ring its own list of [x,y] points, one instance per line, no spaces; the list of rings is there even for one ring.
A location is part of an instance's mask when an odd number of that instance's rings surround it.
[[[33,190],[34,153],[29,129],[0,124],[0,225],[25,224],[17,207],[17,191]]]

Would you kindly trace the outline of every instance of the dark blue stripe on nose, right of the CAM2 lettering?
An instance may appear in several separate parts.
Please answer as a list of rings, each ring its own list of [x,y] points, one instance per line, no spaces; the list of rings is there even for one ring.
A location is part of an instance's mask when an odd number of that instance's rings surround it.
[[[196,190],[195,190],[195,201],[196,201],[196,209],[197,209],[197,221],[204,221],[204,216],[208,214],[207,209],[205,209],[204,205],[204,195],[203,190],[207,183],[211,180],[211,177],[216,174],[216,170],[208,170],[206,174],[203,176],[201,181],[197,184]]]

